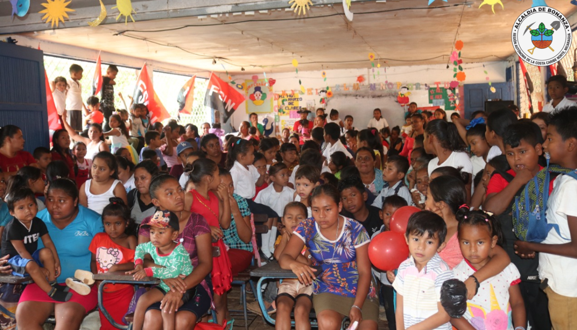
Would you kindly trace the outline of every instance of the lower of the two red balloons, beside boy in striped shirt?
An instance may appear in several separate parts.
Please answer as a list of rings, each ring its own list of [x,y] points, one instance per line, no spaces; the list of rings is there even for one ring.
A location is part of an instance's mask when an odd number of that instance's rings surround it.
[[[400,263],[407,260],[407,257],[409,257],[409,246],[403,234],[380,233],[369,243],[370,263],[380,270],[396,270]]]

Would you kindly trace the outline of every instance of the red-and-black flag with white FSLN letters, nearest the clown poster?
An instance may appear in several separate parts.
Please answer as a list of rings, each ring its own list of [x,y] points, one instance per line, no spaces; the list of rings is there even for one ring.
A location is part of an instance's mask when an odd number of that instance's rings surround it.
[[[211,73],[204,105],[212,111],[213,123],[228,122],[233,112],[245,101],[245,96],[233,86]],[[221,122],[222,118],[222,122]]]

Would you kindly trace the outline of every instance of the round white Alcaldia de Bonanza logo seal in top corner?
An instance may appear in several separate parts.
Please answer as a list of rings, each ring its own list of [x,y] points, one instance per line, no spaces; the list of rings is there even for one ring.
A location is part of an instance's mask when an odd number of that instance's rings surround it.
[[[517,17],[511,41],[525,62],[548,66],[559,62],[571,47],[571,26],[567,18],[552,7],[527,9]]]

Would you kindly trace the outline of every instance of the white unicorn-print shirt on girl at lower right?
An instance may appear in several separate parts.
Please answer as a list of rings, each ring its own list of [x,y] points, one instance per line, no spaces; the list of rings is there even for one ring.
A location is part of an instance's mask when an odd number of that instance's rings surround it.
[[[455,278],[462,281],[476,271],[466,259],[453,268]],[[463,317],[477,330],[513,330],[509,287],[518,285],[520,277],[517,267],[510,263],[499,275],[481,282],[478,293],[467,301]]]

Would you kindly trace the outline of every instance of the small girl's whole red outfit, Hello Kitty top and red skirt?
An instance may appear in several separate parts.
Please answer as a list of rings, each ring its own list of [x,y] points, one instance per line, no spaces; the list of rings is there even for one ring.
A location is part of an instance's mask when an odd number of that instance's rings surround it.
[[[92,238],[88,249],[96,256],[96,269],[98,270],[98,274],[107,272],[108,268],[112,267],[112,265],[134,262],[134,250],[116,244],[106,233],[96,234],[96,236]],[[104,286],[102,304],[118,324],[124,324],[122,317],[128,310],[133,294],[134,287],[132,285],[108,284]],[[102,311],[100,311],[99,314],[100,330],[116,329],[108,322],[106,317],[104,317]]]

